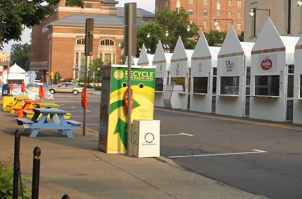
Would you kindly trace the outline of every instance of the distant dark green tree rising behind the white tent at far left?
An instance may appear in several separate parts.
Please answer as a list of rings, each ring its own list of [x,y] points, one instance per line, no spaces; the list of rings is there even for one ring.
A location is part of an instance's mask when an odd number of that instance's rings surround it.
[[[24,70],[29,70],[28,59],[31,58],[31,45],[26,44],[12,44],[11,45],[11,63],[16,63]]]

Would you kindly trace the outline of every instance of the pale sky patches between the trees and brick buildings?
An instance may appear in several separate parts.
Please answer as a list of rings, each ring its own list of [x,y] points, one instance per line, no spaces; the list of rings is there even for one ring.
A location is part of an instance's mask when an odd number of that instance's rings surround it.
[[[119,3],[116,5],[116,7],[124,7],[125,3],[137,3],[137,8],[142,8],[144,10],[147,10],[149,12],[154,13],[155,10],[155,0],[116,0]],[[11,52],[11,45],[12,44],[25,44],[25,43],[29,43],[29,29],[26,28],[23,31],[22,34],[22,41],[21,42],[16,42],[16,41],[10,41],[8,44],[4,44],[4,48],[2,51],[7,52],[8,54],[10,54]]]

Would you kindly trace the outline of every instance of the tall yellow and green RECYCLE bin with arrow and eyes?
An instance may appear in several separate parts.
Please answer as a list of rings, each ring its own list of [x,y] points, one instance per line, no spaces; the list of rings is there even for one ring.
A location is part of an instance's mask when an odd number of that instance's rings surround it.
[[[156,66],[131,66],[132,121],[153,120],[155,72]],[[127,89],[127,65],[112,64],[102,67],[98,148],[106,153],[127,153]]]

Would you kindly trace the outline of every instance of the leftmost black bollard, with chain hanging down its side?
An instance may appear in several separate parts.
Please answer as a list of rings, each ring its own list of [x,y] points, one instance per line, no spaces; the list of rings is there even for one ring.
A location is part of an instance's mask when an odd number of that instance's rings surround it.
[[[15,131],[15,149],[14,149],[14,177],[13,177],[13,199],[18,199],[19,183],[19,155],[20,155],[20,131]]]

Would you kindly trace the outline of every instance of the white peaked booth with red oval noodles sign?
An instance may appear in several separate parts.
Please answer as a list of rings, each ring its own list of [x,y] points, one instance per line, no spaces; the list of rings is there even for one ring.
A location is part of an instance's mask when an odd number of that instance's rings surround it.
[[[294,49],[298,40],[280,36],[268,17],[252,49],[250,118],[293,120]]]

